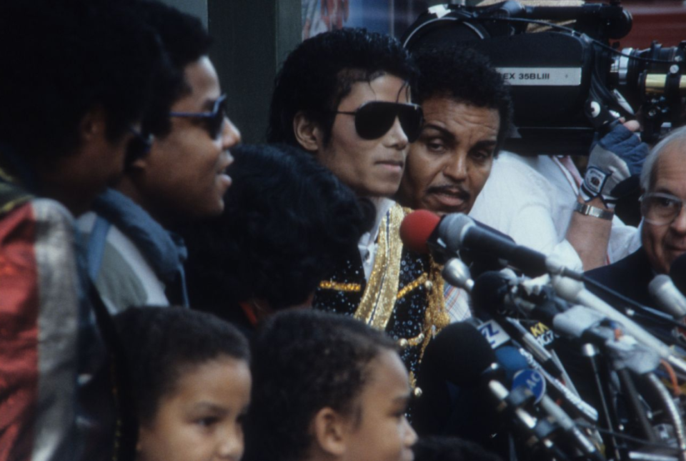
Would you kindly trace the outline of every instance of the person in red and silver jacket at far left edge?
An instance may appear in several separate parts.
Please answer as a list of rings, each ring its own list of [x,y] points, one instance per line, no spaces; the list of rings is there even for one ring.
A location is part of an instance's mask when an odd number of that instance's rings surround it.
[[[121,176],[162,57],[124,2],[0,3],[2,461],[131,454],[74,216]]]

